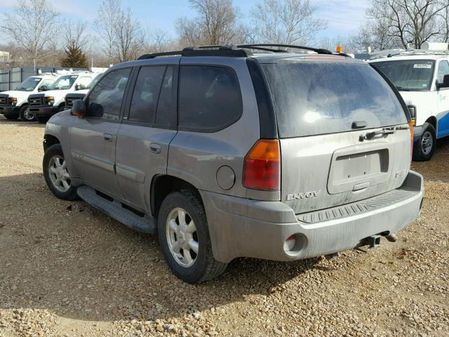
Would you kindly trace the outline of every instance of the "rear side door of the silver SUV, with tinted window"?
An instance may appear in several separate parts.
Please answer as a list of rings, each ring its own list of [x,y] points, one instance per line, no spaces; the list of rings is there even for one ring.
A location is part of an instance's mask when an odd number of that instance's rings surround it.
[[[119,186],[126,200],[144,210],[152,178],[167,172],[168,145],[177,132],[177,74],[177,64],[140,67],[117,136]]]

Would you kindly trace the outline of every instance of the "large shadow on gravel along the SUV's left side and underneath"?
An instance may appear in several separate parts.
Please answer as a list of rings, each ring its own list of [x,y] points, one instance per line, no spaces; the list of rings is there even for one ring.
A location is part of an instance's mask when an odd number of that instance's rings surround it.
[[[83,201],[53,197],[39,173],[0,177],[0,309],[46,309],[75,319],[182,317],[283,291],[319,258],[241,258],[200,285],[168,270],[155,235],[140,234]],[[304,275],[306,277],[307,275]]]

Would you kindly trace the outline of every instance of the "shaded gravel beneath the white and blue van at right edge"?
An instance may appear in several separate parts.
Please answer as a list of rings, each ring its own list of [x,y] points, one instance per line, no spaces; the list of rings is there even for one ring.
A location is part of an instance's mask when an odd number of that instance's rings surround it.
[[[412,169],[424,180],[449,183],[449,137],[436,141],[434,156],[429,161],[413,161]]]

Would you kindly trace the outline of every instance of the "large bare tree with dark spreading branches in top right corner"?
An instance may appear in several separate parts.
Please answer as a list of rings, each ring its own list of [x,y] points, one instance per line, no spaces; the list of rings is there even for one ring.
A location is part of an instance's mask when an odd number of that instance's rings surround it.
[[[447,0],[372,0],[365,27],[371,32],[373,44],[379,48],[414,48],[442,37],[442,29],[448,27]],[[445,37],[442,37],[445,39]]]

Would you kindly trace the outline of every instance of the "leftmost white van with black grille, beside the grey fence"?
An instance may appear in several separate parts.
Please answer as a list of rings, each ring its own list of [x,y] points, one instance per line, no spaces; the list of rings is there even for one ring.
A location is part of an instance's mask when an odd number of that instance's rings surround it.
[[[28,96],[47,91],[53,82],[58,79],[58,74],[40,74],[28,77],[17,88],[0,93],[0,114],[6,119],[22,119],[34,121],[33,114],[29,114]]]

